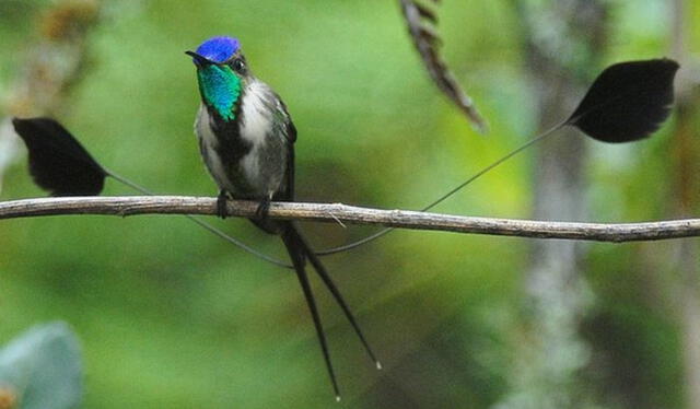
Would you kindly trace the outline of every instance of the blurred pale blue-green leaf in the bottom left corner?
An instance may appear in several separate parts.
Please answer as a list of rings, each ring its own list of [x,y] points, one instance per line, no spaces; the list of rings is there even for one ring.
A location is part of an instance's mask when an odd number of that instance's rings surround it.
[[[78,338],[65,323],[24,332],[0,351],[0,385],[22,409],[75,408],[82,396]]]

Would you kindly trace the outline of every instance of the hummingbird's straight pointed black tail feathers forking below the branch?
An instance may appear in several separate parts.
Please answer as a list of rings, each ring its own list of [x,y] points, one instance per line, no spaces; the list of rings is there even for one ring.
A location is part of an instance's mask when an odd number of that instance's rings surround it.
[[[345,313],[346,317],[352,325],[355,334],[362,341],[368,354],[374,362],[377,369],[382,369],[382,364],[372,352],[369,342],[364,338],[360,326],[358,325],[350,307],[343,300],[340,291],[334,283],[332,279],[328,274],[326,268],[320,264],[318,257],[314,254],[311,246],[307,244],[306,239],[300,233],[299,229],[294,225],[293,222],[284,222],[282,229],[282,241],[284,242],[284,246],[287,247],[287,252],[289,253],[290,258],[292,259],[292,265],[294,266],[294,270],[296,271],[296,277],[299,278],[299,282],[302,285],[302,290],[304,291],[304,296],[306,297],[306,303],[308,304],[308,309],[311,311],[312,318],[314,320],[314,326],[316,327],[316,334],[318,335],[318,341],[320,342],[320,349],[324,354],[324,359],[326,361],[326,366],[328,369],[328,374],[330,376],[330,381],[332,383],[334,390],[336,393],[336,398],[340,399],[340,393],[338,389],[338,383],[336,381],[336,375],[332,369],[332,364],[330,363],[330,354],[328,352],[328,344],[326,342],[326,336],[324,334],[324,328],[320,323],[320,316],[318,315],[318,308],[316,307],[316,301],[314,300],[314,294],[312,292],[311,285],[308,283],[308,277],[306,274],[305,264],[306,259],[308,259],[318,273],[318,277],[322,279],[326,288],[330,291],[336,302],[340,305],[340,308]]]

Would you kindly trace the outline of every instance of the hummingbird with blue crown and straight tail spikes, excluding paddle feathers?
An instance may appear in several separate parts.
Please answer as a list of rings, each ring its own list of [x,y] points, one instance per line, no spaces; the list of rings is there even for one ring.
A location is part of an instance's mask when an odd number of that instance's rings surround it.
[[[336,399],[340,399],[326,337],[306,276],[306,260],[311,261],[342,308],[377,369],[381,364],[299,227],[291,221],[267,218],[271,200],[294,199],[296,128],[279,95],[253,75],[238,39],[213,37],[203,42],[196,51],[186,54],[192,57],[197,68],[201,105],[195,132],[207,168],[220,189],[218,213],[226,217],[229,197],[260,203],[250,221],[264,231],[281,236],[306,297]]]

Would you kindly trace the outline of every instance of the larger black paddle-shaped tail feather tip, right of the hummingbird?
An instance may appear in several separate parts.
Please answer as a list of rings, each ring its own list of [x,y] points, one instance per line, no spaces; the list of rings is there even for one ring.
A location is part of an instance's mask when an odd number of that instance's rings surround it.
[[[670,114],[678,68],[665,58],[612,65],[593,82],[567,124],[604,142],[646,138]]]

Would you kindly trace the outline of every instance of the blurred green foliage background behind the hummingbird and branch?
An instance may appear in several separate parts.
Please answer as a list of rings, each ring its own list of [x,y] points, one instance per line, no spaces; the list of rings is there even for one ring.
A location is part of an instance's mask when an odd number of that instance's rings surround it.
[[[547,14],[555,1],[524,2],[541,11],[534,14],[540,28],[556,33],[568,23]],[[47,13],[61,3],[71,2],[0,0],[3,116],[16,114],[19,105],[36,113],[12,98],[19,98],[19,84],[33,81],[27,61],[40,60],[36,52],[51,36]],[[486,138],[431,83],[396,1],[72,3],[96,13],[80,34],[84,65],[39,114],[56,116],[108,168],[159,192],[217,192],[192,133],[199,97],[183,54],[212,35],[237,36],[253,71],[289,106],[300,132],[296,188],[303,201],[417,209],[538,128],[533,95],[539,85],[527,74],[517,1],[445,0],[436,9],[444,58],[488,118]],[[569,67],[583,77],[626,59],[700,55],[697,0],[603,3],[609,13],[600,62]],[[688,32],[674,50],[678,4]],[[54,49],[59,55],[60,47]],[[50,70],[45,74],[50,78]],[[575,98],[569,108],[574,105]],[[690,107],[690,124],[698,125],[697,105]],[[677,217],[679,129],[674,118],[639,144],[586,142],[587,220]],[[697,153],[698,140],[691,141]],[[540,149],[546,154],[547,143]],[[529,218],[538,165],[533,152],[436,210]],[[2,182],[2,200],[44,196],[27,175],[23,151]],[[130,194],[113,180],[105,191]],[[691,188],[690,197],[697,199],[698,190]],[[699,202],[690,200],[690,208]],[[245,220],[211,222],[284,256],[278,238]],[[303,227],[318,248],[374,231]],[[513,399],[547,408],[542,401],[551,399],[542,396],[559,387],[567,398],[551,407],[700,405],[692,378],[700,365],[692,347],[700,338],[692,338],[693,320],[684,314],[692,308],[682,308],[695,300],[685,290],[697,285],[688,269],[699,261],[679,261],[681,244],[697,247],[697,241],[585,245],[579,271],[590,301],[573,334],[583,349],[570,357],[580,363],[563,385],[521,387],[535,336],[525,285],[532,242],[397,231],[325,258],[385,365],[374,370],[315,282],[343,393],[340,406],[296,278],[177,217],[2,221],[0,342],[37,323],[70,323],[84,353],[85,408],[505,408]]]

